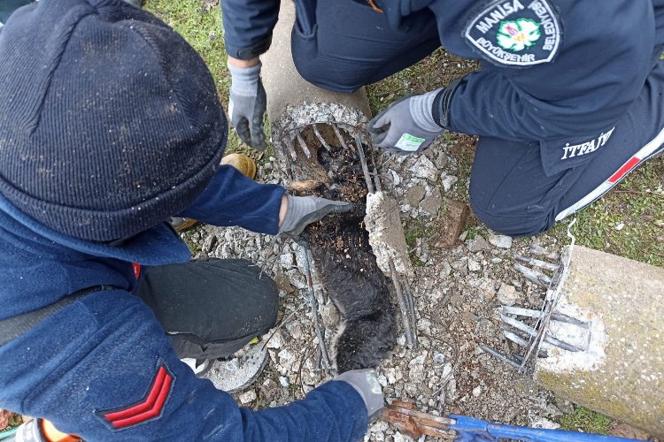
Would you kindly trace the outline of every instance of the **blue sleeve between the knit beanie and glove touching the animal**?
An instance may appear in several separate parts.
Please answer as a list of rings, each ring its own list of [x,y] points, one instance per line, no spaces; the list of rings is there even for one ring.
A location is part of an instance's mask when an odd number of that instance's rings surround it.
[[[279,209],[285,190],[274,184],[259,184],[233,166],[222,165],[205,192],[182,217],[211,225],[239,225],[252,232],[279,232]]]

